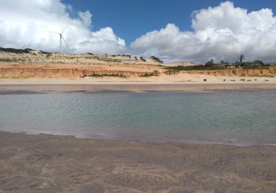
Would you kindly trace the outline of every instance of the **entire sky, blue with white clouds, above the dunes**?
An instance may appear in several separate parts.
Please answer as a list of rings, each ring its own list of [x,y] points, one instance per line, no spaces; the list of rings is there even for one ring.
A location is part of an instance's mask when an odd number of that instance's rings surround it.
[[[0,47],[165,61],[276,61],[276,1],[0,0]],[[63,42],[63,50],[66,48]]]

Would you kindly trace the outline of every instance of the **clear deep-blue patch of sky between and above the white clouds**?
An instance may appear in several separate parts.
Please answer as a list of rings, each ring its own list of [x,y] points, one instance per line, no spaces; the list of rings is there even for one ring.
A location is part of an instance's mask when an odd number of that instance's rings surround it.
[[[92,30],[111,27],[117,36],[129,45],[146,32],[164,28],[167,23],[175,23],[180,30],[191,28],[191,14],[195,10],[219,6],[219,0],[63,0],[75,10],[92,13]],[[275,15],[275,0],[235,0],[235,7],[248,12],[270,8]]]

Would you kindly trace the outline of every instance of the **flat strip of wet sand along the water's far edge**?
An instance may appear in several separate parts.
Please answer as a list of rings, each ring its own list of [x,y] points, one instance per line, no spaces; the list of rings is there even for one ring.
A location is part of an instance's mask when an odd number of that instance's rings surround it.
[[[0,94],[52,92],[276,91],[276,83],[0,82]]]

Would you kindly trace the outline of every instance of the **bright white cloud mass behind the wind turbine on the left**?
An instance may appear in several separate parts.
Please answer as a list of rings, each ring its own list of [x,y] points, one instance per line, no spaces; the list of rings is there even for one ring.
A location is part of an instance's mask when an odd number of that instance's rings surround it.
[[[63,36],[74,52],[124,52],[125,41],[112,28],[91,31],[92,14],[77,12],[72,18],[72,10],[61,0],[0,1],[0,46],[58,51],[59,36],[49,31],[61,32],[68,26]]]

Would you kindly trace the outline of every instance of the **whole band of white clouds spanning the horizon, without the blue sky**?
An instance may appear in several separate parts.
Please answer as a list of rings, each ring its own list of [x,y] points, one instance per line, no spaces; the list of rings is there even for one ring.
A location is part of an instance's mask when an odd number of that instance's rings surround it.
[[[74,16],[72,16],[74,15]],[[66,28],[68,26],[68,28]],[[132,54],[165,61],[236,61],[239,54],[247,60],[276,61],[276,17],[270,9],[248,12],[230,1],[214,8],[193,12],[192,31],[181,31],[175,24],[148,32],[126,47],[112,28],[92,30],[92,14],[77,12],[61,0],[0,1],[0,46],[59,51],[59,36],[72,51],[97,54]],[[66,46],[63,43],[63,49]]]

